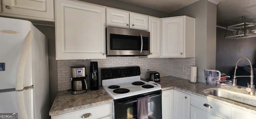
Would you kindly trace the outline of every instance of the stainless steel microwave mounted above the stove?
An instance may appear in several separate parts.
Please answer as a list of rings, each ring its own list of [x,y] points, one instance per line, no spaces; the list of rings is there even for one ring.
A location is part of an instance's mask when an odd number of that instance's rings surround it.
[[[150,32],[106,27],[107,56],[150,55]]]

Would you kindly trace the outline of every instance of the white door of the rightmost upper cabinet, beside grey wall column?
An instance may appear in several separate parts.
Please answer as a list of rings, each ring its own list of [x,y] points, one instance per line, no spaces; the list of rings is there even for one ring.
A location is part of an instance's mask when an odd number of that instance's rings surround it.
[[[162,57],[184,56],[184,18],[162,18]]]

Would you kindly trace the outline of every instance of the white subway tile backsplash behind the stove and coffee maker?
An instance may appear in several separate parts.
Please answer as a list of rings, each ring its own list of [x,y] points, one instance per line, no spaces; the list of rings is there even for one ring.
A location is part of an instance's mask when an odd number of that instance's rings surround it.
[[[194,58],[140,58],[140,57],[107,57],[106,59],[95,60],[58,60],[58,91],[71,88],[71,68],[70,66],[85,65],[88,80],[90,78],[90,62],[97,61],[99,69],[99,85],[101,85],[101,68],[140,66],[141,78],[146,78],[146,71],[154,70],[160,76],[176,76],[189,79],[190,66],[195,64]],[[88,82],[88,85],[90,83]]]

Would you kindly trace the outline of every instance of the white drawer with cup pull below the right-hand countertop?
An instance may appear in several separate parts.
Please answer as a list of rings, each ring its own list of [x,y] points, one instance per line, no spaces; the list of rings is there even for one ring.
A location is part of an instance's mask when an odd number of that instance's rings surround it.
[[[222,105],[220,103],[216,103],[213,101],[209,101],[207,99],[199,98],[197,96],[191,96],[191,105],[198,107],[204,111],[212,113],[214,115],[218,115],[225,119],[232,118],[232,108]],[[211,106],[212,108],[210,108]]]

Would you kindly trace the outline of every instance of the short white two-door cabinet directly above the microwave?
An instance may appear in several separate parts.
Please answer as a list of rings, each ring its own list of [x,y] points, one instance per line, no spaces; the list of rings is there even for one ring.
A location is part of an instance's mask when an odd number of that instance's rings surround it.
[[[106,8],[106,25],[148,31],[148,16],[125,10]]]

